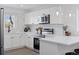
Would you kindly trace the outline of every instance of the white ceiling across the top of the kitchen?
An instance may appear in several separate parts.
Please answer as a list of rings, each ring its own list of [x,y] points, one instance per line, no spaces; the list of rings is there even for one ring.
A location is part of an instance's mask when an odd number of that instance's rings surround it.
[[[39,9],[50,8],[55,6],[63,6],[63,5],[68,7],[70,4],[0,4],[0,7],[16,8],[16,9],[21,9],[26,11],[35,11]],[[74,6],[74,4],[71,4],[70,6]]]

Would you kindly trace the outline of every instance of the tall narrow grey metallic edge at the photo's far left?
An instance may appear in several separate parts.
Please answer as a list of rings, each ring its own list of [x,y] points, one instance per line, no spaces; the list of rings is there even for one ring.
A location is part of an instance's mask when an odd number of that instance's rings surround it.
[[[0,8],[0,55],[4,54],[4,9]]]

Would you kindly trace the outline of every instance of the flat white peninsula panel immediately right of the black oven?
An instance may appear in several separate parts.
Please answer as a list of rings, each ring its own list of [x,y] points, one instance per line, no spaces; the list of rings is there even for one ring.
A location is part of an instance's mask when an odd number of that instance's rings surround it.
[[[57,44],[40,41],[40,55],[58,55]]]

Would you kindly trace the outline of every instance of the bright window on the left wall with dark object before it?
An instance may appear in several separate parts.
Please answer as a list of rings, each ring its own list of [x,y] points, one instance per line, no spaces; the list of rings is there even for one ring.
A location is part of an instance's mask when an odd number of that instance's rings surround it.
[[[15,27],[14,16],[5,15],[4,21],[5,21],[5,28],[7,28],[8,32],[10,32]]]

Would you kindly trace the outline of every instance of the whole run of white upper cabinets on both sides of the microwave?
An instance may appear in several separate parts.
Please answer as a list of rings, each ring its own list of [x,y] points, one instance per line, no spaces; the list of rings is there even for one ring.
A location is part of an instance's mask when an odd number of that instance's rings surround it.
[[[43,16],[50,15],[48,22],[50,24],[62,24],[61,7],[53,7],[48,9],[41,9],[26,14],[25,24],[39,24],[42,23]]]

